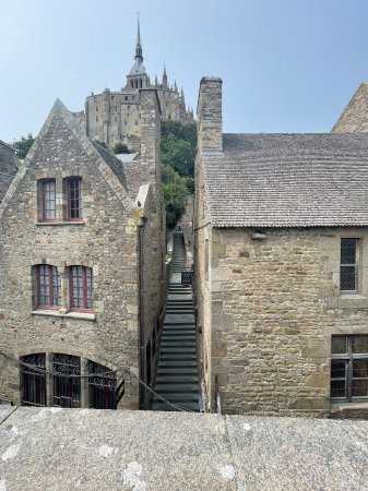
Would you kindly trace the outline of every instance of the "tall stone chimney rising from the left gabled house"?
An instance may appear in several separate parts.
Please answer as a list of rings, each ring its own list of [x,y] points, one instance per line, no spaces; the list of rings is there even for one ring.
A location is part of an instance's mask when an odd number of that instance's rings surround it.
[[[161,199],[161,107],[155,88],[141,88],[141,184]]]

